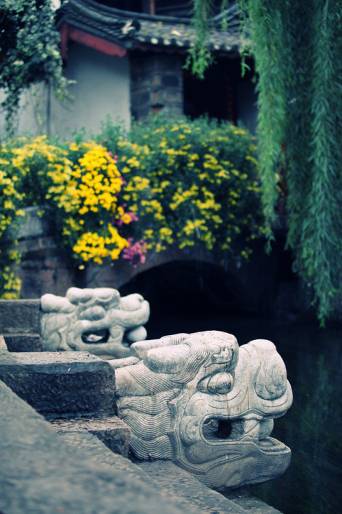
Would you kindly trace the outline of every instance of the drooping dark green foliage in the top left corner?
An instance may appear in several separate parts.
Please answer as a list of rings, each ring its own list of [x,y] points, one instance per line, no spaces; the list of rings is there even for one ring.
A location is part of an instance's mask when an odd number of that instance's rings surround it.
[[[11,133],[25,88],[46,82],[64,99],[68,82],[62,75],[60,34],[51,1],[1,0],[0,4],[0,88],[5,92],[1,107]]]

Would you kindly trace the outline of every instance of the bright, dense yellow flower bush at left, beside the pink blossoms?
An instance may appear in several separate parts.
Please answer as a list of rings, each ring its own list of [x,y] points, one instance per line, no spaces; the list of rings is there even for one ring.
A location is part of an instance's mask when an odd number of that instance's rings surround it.
[[[2,154],[1,245],[8,247],[10,229],[22,212],[15,210],[10,193],[18,206],[42,206],[41,214],[55,225],[57,243],[80,267],[88,261],[101,264],[104,258],[116,260],[123,249],[136,245],[124,234],[137,218],[120,200],[124,180],[105,147],[92,142],[53,145],[46,136],[40,136],[3,145]],[[137,265],[138,254],[135,247],[124,258]],[[6,255],[9,261],[18,258],[14,252]],[[4,252],[1,256],[3,291],[10,287],[5,286],[5,280],[15,284],[7,261],[4,265]]]

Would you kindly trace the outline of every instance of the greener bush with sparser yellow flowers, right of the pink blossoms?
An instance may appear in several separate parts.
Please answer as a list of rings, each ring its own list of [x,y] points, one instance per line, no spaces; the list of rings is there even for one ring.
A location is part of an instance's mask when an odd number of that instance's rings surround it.
[[[151,117],[118,140],[122,198],[140,219],[148,249],[167,245],[246,259],[261,236],[254,138],[239,127],[185,117]]]

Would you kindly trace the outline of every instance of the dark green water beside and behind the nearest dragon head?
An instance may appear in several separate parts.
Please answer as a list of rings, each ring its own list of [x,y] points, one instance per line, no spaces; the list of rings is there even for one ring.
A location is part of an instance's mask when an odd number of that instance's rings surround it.
[[[293,405],[274,421],[272,437],[291,448],[291,465],[282,477],[253,486],[254,495],[284,514],[341,514],[342,328],[211,315],[160,320],[148,336],[199,330],[230,332],[239,345],[269,339],[285,361]]]

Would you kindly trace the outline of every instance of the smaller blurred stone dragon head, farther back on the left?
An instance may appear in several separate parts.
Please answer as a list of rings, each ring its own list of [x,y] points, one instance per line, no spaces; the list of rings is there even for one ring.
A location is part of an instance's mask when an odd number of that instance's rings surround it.
[[[72,287],[66,297],[43,295],[40,310],[44,351],[79,350],[103,358],[129,356],[129,344],[146,339],[143,325],[150,315],[142,295],[121,297],[107,287]]]

